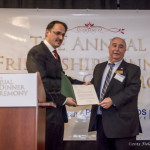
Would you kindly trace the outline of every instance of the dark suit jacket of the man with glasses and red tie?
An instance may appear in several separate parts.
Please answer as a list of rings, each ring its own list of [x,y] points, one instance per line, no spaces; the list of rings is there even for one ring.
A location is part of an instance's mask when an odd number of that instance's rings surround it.
[[[62,106],[66,97],[60,93],[62,65],[59,60],[54,58],[44,42],[34,46],[29,51],[27,55],[27,70],[29,73],[40,72],[47,102],[52,101],[57,105],[57,108],[47,108],[47,118],[51,122],[67,122],[66,108]],[[70,77],[69,79],[75,84],[82,83]]]

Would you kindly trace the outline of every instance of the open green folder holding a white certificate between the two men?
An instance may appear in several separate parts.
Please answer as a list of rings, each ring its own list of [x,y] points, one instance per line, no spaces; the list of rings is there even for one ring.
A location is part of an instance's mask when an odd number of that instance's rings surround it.
[[[78,105],[99,103],[93,85],[72,85],[64,73],[61,73],[61,94],[65,97],[72,97]]]

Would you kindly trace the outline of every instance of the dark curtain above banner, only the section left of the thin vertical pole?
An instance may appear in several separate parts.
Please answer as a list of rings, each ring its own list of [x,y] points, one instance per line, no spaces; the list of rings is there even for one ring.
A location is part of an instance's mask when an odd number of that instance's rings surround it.
[[[116,0],[1,0],[0,8],[116,9]]]

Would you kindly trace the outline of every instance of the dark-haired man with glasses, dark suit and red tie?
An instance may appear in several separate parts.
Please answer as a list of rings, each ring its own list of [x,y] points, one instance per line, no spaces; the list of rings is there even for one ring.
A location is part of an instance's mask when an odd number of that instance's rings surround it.
[[[63,69],[60,57],[54,50],[62,44],[66,31],[67,25],[61,21],[49,23],[45,32],[45,40],[34,46],[27,56],[28,72],[40,72],[46,101],[51,103],[50,105],[56,105],[56,108],[49,107],[46,110],[46,150],[62,149],[64,122],[68,121],[65,104],[77,106],[73,98],[66,98],[60,93]],[[72,83],[82,83],[68,78]]]

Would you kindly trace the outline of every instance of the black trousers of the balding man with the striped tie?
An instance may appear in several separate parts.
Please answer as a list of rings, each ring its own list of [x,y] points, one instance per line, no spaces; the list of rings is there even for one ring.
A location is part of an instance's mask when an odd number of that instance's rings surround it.
[[[102,125],[102,116],[97,115],[97,150],[135,150],[130,143],[134,143],[136,137],[107,138]]]

